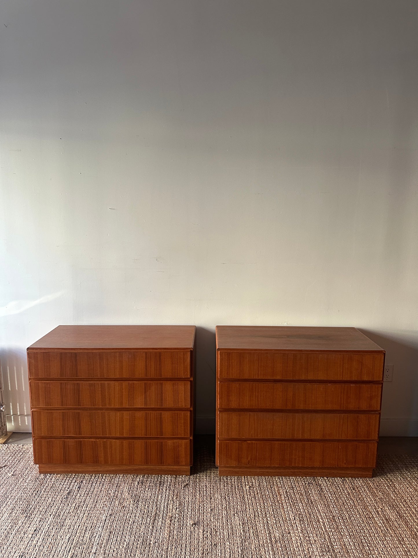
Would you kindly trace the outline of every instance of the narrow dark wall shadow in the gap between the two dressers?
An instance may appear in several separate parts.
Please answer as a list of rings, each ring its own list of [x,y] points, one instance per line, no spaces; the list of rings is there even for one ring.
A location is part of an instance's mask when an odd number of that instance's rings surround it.
[[[196,432],[215,434],[215,331],[196,328]]]

